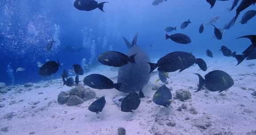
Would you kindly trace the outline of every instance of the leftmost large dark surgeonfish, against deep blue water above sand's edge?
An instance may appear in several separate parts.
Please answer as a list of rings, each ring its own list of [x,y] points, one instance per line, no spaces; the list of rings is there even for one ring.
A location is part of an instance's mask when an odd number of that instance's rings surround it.
[[[59,70],[59,67],[60,67],[59,60],[58,60],[58,63],[56,61],[48,61],[42,67],[40,67],[38,73],[39,75],[42,75],[42,76],[52,75]]]

